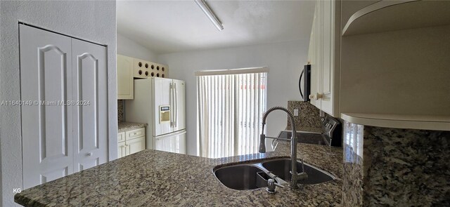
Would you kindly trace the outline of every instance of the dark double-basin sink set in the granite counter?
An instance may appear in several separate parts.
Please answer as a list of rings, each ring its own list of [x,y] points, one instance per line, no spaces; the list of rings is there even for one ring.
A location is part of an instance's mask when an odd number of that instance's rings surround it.
[[[298,161],[297,171],[299,171],[298,173],[302,171],[302,164]],[[304,163],[304,171],[307,172],[308,178],[307,180],[300,180],[299,183],[302,184],[313,185],[335,180],[333,175],[314,168],[307,163]],[[290,158],[224,166],[214,168],[213,172],[223,185],[231,189],[244,190],[266,187],[267,180],[275,178],[275,176],[277,178],[274,180],[278,184],[283,185],[290,180]],[[272,176],[267,175],[267,173]]]

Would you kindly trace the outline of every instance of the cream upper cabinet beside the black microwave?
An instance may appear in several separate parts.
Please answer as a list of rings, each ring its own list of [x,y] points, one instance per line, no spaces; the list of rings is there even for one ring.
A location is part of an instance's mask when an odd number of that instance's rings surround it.
[[[316,1],[309,43],[311,104],[339,116],[340,1]],[[336,32],[338,31],[338,32]]]

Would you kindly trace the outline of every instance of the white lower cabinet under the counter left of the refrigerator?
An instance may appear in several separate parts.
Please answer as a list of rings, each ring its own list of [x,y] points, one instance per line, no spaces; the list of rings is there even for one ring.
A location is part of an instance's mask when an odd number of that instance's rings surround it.
[[[145,128],[124,131],[117,134],[117,158],[146,149]]]

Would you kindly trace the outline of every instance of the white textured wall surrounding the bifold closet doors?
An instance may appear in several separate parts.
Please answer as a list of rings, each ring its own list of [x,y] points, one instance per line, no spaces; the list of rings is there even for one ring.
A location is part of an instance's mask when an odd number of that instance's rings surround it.
[[[20,100],[18,22],[108,46],[108,133],[117,149],[115,1],[0,1],[0,102]],[[22,188],[20,107],[1,106],[0,206],[16,206],[13,188]],[[117,157],[117,150],[109,156]]]

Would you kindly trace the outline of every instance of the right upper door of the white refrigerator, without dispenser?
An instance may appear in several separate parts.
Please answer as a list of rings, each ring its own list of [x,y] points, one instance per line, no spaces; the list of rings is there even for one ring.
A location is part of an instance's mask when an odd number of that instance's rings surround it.
[[[173,80],[176,95],[176,104],[172,112],[174,114],[174,131],[179,131],[186,128],[186,97],[185,97],[185,83],[180,80]]]

